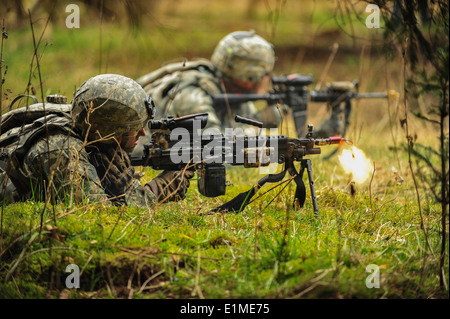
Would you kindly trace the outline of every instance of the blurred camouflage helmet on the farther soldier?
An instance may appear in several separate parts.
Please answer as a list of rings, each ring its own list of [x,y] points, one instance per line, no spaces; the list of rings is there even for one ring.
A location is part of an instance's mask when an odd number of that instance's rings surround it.
[[[236,31],[219,42],[211,62],[221,76],[256,83],[272,72],[275,52],[254,31]]]

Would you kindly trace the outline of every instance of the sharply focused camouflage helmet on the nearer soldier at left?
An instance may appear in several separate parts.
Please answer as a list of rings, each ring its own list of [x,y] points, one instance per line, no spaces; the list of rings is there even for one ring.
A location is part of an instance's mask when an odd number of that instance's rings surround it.
[[[142,87],[122,75],[101,74],[82,84],[72,100],[75,127],[88,140],[113,143],[130,131],[139,131],[153,118],[155,106]]]

